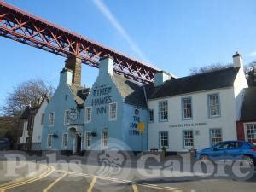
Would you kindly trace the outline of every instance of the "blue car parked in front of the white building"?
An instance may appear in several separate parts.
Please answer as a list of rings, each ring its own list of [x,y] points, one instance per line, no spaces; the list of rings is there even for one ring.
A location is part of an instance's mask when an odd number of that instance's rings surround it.
[[[226,141],[198,151],[196,159],[247,160],[250,165],[253,165],[256,160],[256,146],[245,141]]]

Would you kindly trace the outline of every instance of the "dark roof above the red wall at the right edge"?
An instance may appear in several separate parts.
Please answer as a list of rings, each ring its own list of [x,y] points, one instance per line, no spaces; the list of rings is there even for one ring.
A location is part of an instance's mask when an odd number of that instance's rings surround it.
[[[241,107],[241,121],[256,119],[256,87],[244,89],[244,98]]]

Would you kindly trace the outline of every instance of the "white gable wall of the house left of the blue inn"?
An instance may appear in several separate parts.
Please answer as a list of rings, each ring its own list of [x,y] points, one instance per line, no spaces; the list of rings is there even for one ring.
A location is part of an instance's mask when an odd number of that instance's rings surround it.
[[[42,114],[44,113],[47,105],[48,105],[48,102],[46,99],[44,99],[43,103],[41,104],[40,108],[38,109],[38,113],[35,116],[33,135],[32,135],[32,143],[41,143],[42,131],[43,131],[43,125],[41,124],[41,119],[42,119]],[[45,118],[45,115],[44,115],[44,118]]]

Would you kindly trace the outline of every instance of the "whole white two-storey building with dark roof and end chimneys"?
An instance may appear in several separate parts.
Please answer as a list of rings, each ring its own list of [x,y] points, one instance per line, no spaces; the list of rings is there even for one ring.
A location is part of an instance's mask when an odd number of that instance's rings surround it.
[[[148,100],[148,150],[187,151],[237,139],[236,120],[247,87],[241,55],[233,55],[233,67],[169,79],[165,72],[155,75]]]

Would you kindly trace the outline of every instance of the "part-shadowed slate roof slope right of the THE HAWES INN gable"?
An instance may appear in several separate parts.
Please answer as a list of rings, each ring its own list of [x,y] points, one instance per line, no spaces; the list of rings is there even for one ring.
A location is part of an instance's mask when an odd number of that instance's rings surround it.
[[[126,103],[147,107],[143,90],[144,84],[140,84],[137,81],[127,79],[118,74],[113,74],[112,79]]]

